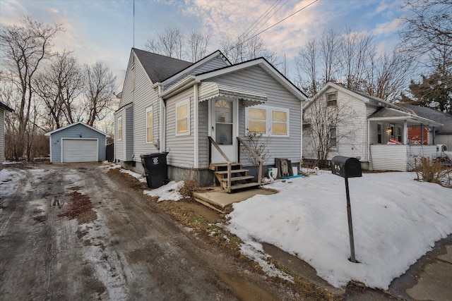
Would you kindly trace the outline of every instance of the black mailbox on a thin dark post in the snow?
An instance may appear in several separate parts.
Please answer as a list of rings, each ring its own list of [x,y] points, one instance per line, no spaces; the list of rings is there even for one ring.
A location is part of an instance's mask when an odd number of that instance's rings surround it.
[[[348,236],[350,239],[350,261],[357,262],[355,257],[355,240],[353,238],[352,207],[350,206],[350,192],[348,178],[362,177],[361,163],[356,158],[335,156],[331,159],[331,172],[345,178],[345,194],[347,195]]]

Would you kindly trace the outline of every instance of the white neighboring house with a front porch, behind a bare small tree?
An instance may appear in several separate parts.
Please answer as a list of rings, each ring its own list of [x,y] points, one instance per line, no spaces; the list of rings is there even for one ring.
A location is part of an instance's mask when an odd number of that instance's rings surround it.
[[[331,129],[332,136],[329,139],[334,140],[334,147],[328,154],[328,160],[337,155],[350,156],[359,159],[363,169],[408,171],[415,166],[416,157],[434,158],[436,154],[434,145],[410,144],[408,128],[412,126],[432,128],[441,123],[417,116],[414,112],[383,99],[327,82],[309,99],[309,102],[304,104],[304,159],[317,159],[313,147],[316,141],[309,135],[310,125],[315,122],[316,116],[313,116],[309,106],[320,102],[321,99],[333,110],[344,106],[350,108],[350,116],[345,118],[343,124],[339,123]],[[344,132],[347,132],[347,135],[341,135]],[[336,137],[341,139],[336,141]]]

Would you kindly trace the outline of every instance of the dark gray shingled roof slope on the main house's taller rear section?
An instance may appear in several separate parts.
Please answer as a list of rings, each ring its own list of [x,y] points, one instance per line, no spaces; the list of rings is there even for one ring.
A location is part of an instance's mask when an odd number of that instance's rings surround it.
[[[162,82],[193,63],[133,48],[152,82]]]

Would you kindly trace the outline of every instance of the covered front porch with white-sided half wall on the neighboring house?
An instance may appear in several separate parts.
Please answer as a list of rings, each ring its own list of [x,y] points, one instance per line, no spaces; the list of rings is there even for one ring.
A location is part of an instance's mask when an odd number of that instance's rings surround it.
[[[434,127],[440,123],[388,108],[369,116],[368,123],[369,170],[411,171],[422,156],[435,159]]]

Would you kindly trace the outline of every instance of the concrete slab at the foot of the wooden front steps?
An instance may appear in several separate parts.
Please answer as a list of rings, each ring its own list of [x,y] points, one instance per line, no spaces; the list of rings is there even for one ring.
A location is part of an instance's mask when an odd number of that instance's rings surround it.
[[[212,188],[211,190],[193,192],[194,199],[212,209],[225,213],[227,205],[242,202],[254,195],[273,195],[275,191],[268,189],[250,189],[234,193],[227,193],[222,188]]]

